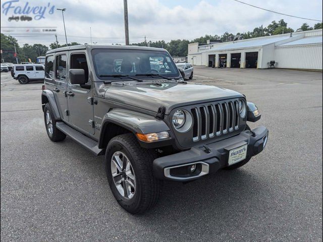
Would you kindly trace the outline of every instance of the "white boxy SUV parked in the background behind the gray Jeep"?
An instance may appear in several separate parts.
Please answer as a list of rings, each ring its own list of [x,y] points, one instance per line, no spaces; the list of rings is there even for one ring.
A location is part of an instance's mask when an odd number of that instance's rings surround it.
[[[27,84],[29,81],[44,80],[45,69],[39,64],[15,65],[11,69],[11,76],[20,84]]]

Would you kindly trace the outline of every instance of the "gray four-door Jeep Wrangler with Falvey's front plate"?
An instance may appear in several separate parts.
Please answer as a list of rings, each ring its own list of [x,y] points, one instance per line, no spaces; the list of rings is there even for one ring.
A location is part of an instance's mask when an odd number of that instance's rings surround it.
[[[235,169],[268,130],[244,95],[187,83],[165,49],[76,45],[46,53],[42,108],[50,140],[105,155],[111,191],[130,213],[153,206],[162,180]],[[73,154],[71,152],[70,154]]]

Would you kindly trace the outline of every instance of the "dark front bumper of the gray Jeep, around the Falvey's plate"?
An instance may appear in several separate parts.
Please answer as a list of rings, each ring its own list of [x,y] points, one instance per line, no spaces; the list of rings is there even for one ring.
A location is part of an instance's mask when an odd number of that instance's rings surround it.
[[[247,144],[245,160],[249,160],[263,150],[267,138],[268,130],[264,126],[260,126],[225,140],[199,145],[188,151],[157,158],[153,161],[154,176],[158,179],[187,181],[214,173],[228,166],[230,150]],[[192,164],[196,164],[195,172],[191,174],[189,171],[185,172],[188,170],[186,168]]]

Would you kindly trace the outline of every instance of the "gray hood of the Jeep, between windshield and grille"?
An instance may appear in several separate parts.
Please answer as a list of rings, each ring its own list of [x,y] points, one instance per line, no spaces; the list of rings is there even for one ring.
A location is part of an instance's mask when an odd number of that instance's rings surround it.
[[[196,83],[113,83],[104,94],[105,99],[157,112],[166,107],[166,114],[176,107],[243,97],[242,94],[225,88]]]

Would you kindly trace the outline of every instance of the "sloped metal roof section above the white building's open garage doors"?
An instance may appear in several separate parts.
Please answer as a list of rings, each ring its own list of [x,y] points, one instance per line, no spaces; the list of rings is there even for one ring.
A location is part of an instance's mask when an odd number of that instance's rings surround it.
[[[222,46],[217,46],[216,44],[214,44],[212,50],[258,47],[258,46],[263,46],[267,44],[272,44],[288,38],[290,38],[290,36],[280,36],[280,37],[271,36],[270,38],[264,38],[264,39],[250,39],[250,40],[243,40],[243,41],[237,41],[237,42],[230,42],[229,44],[222,45]]]

